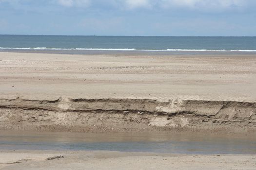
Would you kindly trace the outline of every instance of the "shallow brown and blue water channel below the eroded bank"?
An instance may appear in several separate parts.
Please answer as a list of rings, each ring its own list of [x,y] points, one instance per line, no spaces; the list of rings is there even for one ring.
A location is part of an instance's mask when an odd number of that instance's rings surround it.
[[[106,150],[187,154],[256,154],[255,136],[200,133],[44,133],[0,131],[1,150]]]

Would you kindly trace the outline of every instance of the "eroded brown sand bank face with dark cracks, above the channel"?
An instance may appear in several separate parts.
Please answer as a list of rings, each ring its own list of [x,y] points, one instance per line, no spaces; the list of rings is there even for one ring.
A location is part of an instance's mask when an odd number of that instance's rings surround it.
[[[0,129],[256,131],[255,102],[17,98],[0,99],[0,108]]]

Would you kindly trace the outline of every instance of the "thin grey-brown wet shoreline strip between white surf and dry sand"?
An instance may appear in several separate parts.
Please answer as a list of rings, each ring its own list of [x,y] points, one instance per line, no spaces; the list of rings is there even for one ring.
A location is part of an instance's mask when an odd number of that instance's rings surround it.
[[[230,55],[232,57],[236,56],[252,56],[256,55],[256,51],[150,51],[150,50],[36,50],[36,49],[0,49],[0,52],[11,52],[11,53],[41,53],[41,54],[66,54],[66,55],[118,55],[118,56],[224,56]]]

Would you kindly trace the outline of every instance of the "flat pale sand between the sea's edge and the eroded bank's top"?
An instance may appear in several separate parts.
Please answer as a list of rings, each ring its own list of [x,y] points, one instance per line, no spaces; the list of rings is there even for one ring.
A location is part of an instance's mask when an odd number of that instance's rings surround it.
[[[255,102],[255,86],[255,55],[95,56],[0,52],[0,98]]]

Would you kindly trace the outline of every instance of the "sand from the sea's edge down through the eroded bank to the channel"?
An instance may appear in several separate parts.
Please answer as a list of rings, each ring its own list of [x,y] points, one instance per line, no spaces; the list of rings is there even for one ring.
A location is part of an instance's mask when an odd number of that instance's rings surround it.
[[[255,131],[256,57],[0,53],[1,129]]]

